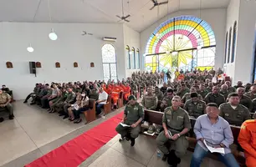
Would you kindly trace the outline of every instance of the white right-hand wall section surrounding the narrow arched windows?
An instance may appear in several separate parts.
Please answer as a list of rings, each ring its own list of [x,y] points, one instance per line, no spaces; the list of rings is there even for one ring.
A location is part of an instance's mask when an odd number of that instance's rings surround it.
[[[240,0],[230,0],[230,3],[228,5],[228,9],[227,9],[227,24],[226,24],[226,33],[228,32],[228,37],[229,37],[229,29],[232,28],[232,32],[233,32],[233,25],[235,23],[235,21],[237,21],[237,32],[239,33],[239,8],[240,8]],[[226,33],[225,33],[225,39],[224,39],[224,44],[226,43]],[[232,33],[232,38],[231,38],[231,43],[233,43],[233,33]],[[227,45],[228,47],[229,45]],[[236,52],[235,52],[236,55]],[[228,63],[228,56],[230,57],[230,61],[231,61],[231,57],[232,57],[232,48],[231,48],[231,52],[228,55],[228,48],[227,48],[227,57],[226,57],[226,63],[224,64],[224,73],[227,73],[228,76],[230,76],[232,78],[232,80],[234,79],[235,76],[235,62],[236,62],[236,56],[234,58],[234,62],[233,63]],[[223,61],[225,59],[225,50],[223,52]],[[234,83],[234,82],[232,82]]]

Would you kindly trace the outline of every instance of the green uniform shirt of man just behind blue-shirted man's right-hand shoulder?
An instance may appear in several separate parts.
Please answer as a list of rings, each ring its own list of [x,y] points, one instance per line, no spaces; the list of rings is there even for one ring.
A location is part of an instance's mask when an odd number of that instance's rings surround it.
[[[248,109],[241,104],[238,104],[236,109],[233,109],[229,103],[221,104],[219,109],[220,116],[226,119],[229,124],[241,126],[245,120],[251,119]]]

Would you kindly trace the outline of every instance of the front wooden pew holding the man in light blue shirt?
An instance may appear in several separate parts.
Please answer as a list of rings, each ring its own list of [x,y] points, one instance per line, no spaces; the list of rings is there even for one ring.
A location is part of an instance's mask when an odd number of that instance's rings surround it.
[[[162,124],[162,116],[163,116],[163,113],[161,113],[161,112],[145,109],[145,119],[144,120],[149,123],[161,125]],[[196,119],[191,118],[190,120],[191,120],[191,124],[192,124],[192,129],[190,129],[190,131],[187,133],[187,137],[186,137],[189,142],[189,147],[187,150],[190,150],[193,152],[195,149],[195,146],[197,144],[197,139],[193,132],[193,127],[196,123]],[[232,126],[232,125],[230,125],[230,127],[231,127],[232,133],[233,133],[233,139],[234,139],[233,144],[237,144],[238,149],[239,148],[242,149],[238,144],[238,134],[240,132],[240,127]],[[144,127],[141,127],[141,130],[143,132],[146,129]],[[156,138],[156,136],[153,136],[153,137]],[[237,159],[238,164],[240,164],[240,166],[245,166],[245,158],[243,157],[243,154],[239,153],[239,151],[243,151],[243,149],[238,150],[237,154],[234,154],[234,156]],[[216,154],[209,154],[209,157],[212,159],[218,159]]]

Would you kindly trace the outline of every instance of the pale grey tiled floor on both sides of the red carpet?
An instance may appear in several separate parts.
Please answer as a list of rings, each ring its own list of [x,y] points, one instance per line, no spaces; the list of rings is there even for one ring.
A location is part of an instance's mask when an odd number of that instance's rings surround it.
[[[70,123],[69,120],[63,120],[57,114],[48,114],[44,109],[23,104],[21,101],[15,102],[14,107],[15,119],[5,120],[0,124],[0,166],[3,167],[21,167],[28,164],[123,110],[119,109],[105,118],[84,125]],[[116,135],[79,166],[168,166],[156,157],[154,139],[140,135],[134,147],[126,141],[120,143],[118,139],[119,135]],[[179,166],[189,166],[191,156],[192,153],[187,153]],[[223,164],[212,159],[204,159],[202,166],[222,167]]]

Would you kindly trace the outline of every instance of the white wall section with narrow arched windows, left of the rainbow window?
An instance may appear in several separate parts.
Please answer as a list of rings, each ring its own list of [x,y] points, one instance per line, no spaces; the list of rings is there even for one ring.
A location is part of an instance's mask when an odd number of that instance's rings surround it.
[[[140,49],[141,51],[141,39],[140,39],[140,33],[136,32],[135,30],[133,30],[132,28],[129,28],[128,26],[126,26],[125,24],[124,26],[124,48],[126,47],[126,45],[128,45],[130,47],[130,49],[132,47],[135,48],[135,50],[137,48]],[[127,67],[127,58],[126,58],[126,50],[125,50],[125,76],[127,77],[131,77],[131,73],[136,72],[136,71],[140,71],[140,69],[136,68],[136,69],[132,69],[132,64],[131,64],[131,69],[128,69]],[[141,53],[141,52],[140,52]],[[133,57],[133,54],[131,55],[131,58]],[[140,58],[141,60],[141,58]],[[141,62],[141,61],[140,61]]]

